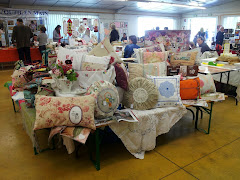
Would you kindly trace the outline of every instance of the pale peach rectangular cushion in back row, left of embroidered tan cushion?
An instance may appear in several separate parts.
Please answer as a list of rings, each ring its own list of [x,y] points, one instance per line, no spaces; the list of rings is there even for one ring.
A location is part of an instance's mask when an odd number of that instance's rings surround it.
[[[157,63],[157,62],[163,62],[164,61],[164,55],[163,52],[144,52],[143,53],[143,63]]]

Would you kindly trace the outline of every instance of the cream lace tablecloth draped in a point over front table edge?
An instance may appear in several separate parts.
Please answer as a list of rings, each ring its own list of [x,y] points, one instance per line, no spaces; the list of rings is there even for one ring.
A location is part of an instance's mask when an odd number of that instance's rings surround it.
[[[167,107],[132,112],[138,123],[112,123],[109,127],[132,155],[144,159],[145,151],[155,148],[156,137],[169,132],[187,110],[185,107]]]

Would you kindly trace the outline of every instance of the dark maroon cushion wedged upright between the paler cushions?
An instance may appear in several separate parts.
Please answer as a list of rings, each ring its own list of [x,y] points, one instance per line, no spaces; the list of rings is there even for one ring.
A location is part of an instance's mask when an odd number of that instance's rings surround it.
[[[128,79],[126,76],[126,73],[124,72],[124,69],[122,66],[118,63],[114,64],[115,72],[116,72],[116,81],[117,85],[121,88],[123,88],[125,91],[128,90]]]

